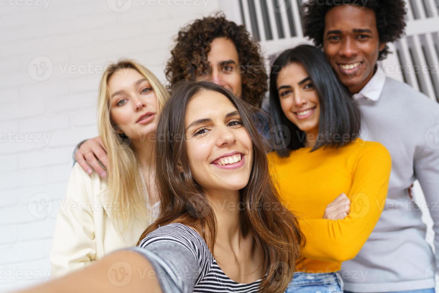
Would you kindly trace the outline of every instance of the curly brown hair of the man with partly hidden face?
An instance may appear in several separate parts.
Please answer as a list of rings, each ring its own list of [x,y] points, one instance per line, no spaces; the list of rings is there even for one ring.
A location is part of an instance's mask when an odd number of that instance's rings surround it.
[[[181,80],[192,80],[192,65],[203,66],[197,58],[207,58],[210,43],[218,37],[227,37],[233,41],[239,56],[239,65],[244,66],[242,73],[242,99],[251,105],[260,107],[267,90],[267,74],[259,44],[256,43],[244,25],[228,21],[222,12],[213,16],[197,19],[178,32],[176,45],[171,51],[172,57],[166,64],[166,79],[169,88]],[[201,62],[202,63],[202,62]],[[197,69],[198,70],[198,69]]]

